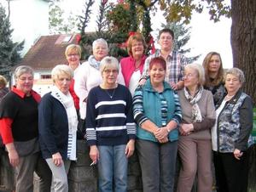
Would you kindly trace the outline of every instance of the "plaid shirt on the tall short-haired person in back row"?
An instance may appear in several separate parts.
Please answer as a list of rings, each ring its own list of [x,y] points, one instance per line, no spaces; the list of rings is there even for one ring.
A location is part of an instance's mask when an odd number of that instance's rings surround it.
[[[145,61],[143,68],[142,78],[148,77],[149,62],[155,57],[160,57],[160,49],[157,49],[154,54],[148,56]],[[177,51],[172,51],[166,59],[166,78],[165,81],[168,83],[179,82],[183,80],[184,76],[184,66],[187,65],[187,59],[183,54],[177,53]]]

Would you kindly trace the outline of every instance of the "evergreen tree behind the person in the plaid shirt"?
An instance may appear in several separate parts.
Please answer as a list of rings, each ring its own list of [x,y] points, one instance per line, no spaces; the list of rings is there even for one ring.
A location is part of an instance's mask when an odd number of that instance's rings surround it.
[[[189,42],[190,39],[190,28],[186,27],[179,22],[167,22],[166,25],[162,24],[162,28],[171,29],[174,32],[174,44],[173,50],[178,51],[181,54],[188,54],[191,51],[191,48],[184,49],[183,47]],[[192,63],[197,60],[201,55],[196,55],[193,57],[188,57],[188,62]]]

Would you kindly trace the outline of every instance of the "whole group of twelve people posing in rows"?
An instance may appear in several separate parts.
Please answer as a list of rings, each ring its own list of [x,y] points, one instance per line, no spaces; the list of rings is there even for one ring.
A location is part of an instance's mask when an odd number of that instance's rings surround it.
[[[51,72],[54,86],[41,99],[32,90],[32,68],[15,70],[15,86],[0,103],[0,133],[17,171],[16,191],[32,191],[33,172],[42,191],[67,192],[76,161],[76,140],[86,138],[99,191],[127,191],[128,158],[137,150],[143,191],[212,191],[212,154],[218,192],[247,191],[252,99],[241,91],[245,77],[224,72],[220,54],[187,64],[172,50],[174,33],[159,33],[160,49],[145,55],[140,33],[127,41],[129,57],[108,56],[108,43],[69,45],[68,65]],[[1,80],[1,79],[0,79]],[[1,81],[0,81],[1,82]],[[213,151],[213,152],[212,152]]]

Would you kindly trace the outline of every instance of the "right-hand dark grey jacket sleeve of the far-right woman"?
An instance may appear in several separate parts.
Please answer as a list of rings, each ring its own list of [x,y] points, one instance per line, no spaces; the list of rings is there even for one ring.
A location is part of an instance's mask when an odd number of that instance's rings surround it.
[[[247,96],[244,99],[239,114],[241,128],[239,138],[236,141],[236,149],[245,151],[247,150],[248,138],[253,129],[253,101],[250,97]]]

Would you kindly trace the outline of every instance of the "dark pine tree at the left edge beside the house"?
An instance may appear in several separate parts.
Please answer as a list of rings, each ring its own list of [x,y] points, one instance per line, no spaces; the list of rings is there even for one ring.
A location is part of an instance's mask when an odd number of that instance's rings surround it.
[[[13,42],[13,29],[10,28],[9,16],[0,3],[0,74],[9,79],[9,71],[20,60],[20,51],[24,42]]]

